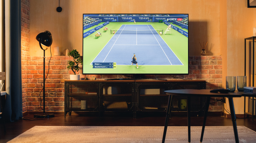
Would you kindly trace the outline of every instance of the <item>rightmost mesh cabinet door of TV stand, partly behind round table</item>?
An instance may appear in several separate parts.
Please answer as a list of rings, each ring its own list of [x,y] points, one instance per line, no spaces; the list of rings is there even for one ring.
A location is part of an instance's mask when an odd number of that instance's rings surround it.
[[[205,89],[205,81],[193,82],[172,82],[171,89]],[[204,98],[193,97],[191,98],[191,111],[204,110]],[[173,96],[172,111],[187,111],[187,97]]]

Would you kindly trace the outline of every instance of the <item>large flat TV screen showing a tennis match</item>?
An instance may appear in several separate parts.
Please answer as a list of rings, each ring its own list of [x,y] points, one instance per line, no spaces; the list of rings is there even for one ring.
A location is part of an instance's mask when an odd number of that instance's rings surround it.
[[[83,74],[188,74],[188,14],[83,14]]]

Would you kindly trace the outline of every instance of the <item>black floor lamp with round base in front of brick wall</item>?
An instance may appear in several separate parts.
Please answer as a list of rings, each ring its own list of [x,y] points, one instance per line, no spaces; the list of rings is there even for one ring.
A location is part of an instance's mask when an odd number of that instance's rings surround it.
[[[39,46],[42,50],[44,50],[44,84],[43,84],[43,103],[44,103],[44,107],[43,107],[43,113],[38,113],[38,114],[34,114],[34,118],[52,118],[54,117],[53,113],[45,113],[45,50],[47,50],[53,43],[53,39],[52,39],[52,34],[49,31],[45,31],[42,33],[39,33],[36,38],[35,38],[38,42],[39,42]],[[46,48],[44,49],[42,47],[42,45],[46,46]]]

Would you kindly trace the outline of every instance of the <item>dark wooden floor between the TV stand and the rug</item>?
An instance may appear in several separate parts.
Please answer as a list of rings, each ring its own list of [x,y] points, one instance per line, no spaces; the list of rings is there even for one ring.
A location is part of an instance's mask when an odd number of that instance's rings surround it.
[[[98,113],[72,112],[64,118],[64,113],[55,113],[54,118],[34,119],[35,113],[24,115],[24,119],[6,123],[6,133],[0,124],[0,142],[5,143],[24,133],[33,126],[164,126],[165,113],[140,113],[134,119],[130,113],[104,113],[99,118]],[[256,131],[256,119],[237,118],[238,126],[245,126]],[[202,126],[203,117],[193,114],[191,126]],[[172,113],[168,126],[187,126],[186,113]],[[221,117],[220,112],[209,112],[206,126],[232,126],[230,118]]]

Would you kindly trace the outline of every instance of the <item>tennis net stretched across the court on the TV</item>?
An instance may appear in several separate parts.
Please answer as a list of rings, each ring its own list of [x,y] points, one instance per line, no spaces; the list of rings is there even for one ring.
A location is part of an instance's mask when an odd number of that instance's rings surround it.
[[[110,30],[111,34],[159,34],[163,30]]]

